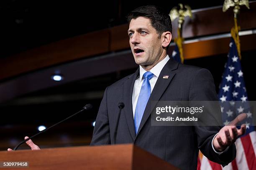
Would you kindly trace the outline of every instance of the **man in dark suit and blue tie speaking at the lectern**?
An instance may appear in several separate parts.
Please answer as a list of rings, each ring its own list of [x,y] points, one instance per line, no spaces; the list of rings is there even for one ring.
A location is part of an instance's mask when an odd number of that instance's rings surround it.
[[[133,10],[128,21],[131,50],[139,68],[106,88],[91,145],[134,143],[181,169],[197,168],[199,149],[216,163],[230,163],[236,156],[234,142],[245,133],[244,125],[239,130],[236,126],[151,126],[151,101],[218,98],[208,70],[181,65],[167,55],[172,39],[169,15],[158,7],[143,6]],[[115,137],[121,101],[125,107]]]

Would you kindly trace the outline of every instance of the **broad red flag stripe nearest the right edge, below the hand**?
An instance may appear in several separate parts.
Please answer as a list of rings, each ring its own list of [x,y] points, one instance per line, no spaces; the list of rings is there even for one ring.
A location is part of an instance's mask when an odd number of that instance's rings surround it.
[[[243,144],[243,150],[246,155],[247,164],[250,170],[256,168],[256,158],[253,150],[253,145],[251,143],[250,135],[241,137],[241,142]]]

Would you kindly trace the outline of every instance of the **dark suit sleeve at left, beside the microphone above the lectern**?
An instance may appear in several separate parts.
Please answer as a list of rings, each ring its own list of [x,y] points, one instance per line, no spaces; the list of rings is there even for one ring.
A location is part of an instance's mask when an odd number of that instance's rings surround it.
[[[95,127],[93,130],[92,141],[90,145],[108,145],[110,144],[110,129],[108,120],[107,106],[108,87],[104,92],[103,99],[97,114]]]

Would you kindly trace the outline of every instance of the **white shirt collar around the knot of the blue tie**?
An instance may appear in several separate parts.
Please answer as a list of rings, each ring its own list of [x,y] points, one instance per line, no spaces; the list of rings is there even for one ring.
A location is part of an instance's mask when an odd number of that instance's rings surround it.
[[[161,60],[159,63],[157,63],[153,68],[151,68],[150,72],[152,72],[157,78],[160,75],[161,70],[164,68],[164,65],[168,62],[170,59],[169,55],[166,55],[163,60]],[[146,72],[141,65],[140,65],[140,82],[142,80],[143,74]]]

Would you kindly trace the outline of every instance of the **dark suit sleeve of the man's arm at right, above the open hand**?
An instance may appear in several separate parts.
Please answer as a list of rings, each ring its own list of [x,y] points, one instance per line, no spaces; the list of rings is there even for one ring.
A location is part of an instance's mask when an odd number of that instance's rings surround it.
[[[189,89],[189,100],[218,101],[214,80],[210,71],[200,69],[192,79]],[[211,161],[227,165],[236,158],[236,145],[233,143],[225,153],[219,155],[212,149],[212,139],[221,126],[194,126],[197,134],[198,148]]]

